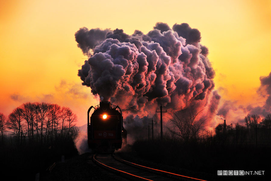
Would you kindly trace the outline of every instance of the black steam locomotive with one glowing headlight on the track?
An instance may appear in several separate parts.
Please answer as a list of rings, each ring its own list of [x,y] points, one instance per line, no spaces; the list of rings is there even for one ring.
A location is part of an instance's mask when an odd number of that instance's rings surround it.
[[[94,108],[89,121],[89,112]],[[126,141],[127,132],[123,128],[123,116],[119,106],[110,102],[100,102],[88,110],[88,145],[95,152],[113,153]]]

